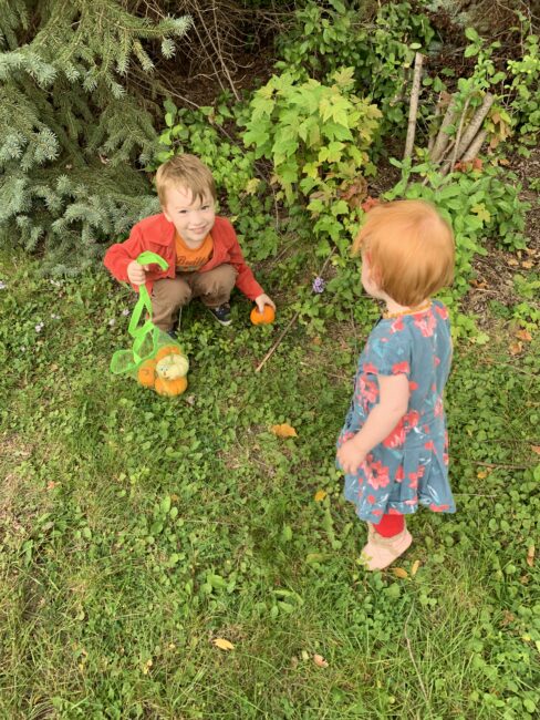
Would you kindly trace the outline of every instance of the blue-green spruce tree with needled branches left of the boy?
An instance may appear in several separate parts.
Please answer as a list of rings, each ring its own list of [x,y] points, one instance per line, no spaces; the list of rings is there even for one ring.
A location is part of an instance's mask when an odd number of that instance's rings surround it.
[[[189,18],[150,22],[137,3],[6,1],[0,14],[0,244],[44,250],[55,274],[86,267],[98,240],[157,210],[136,163],[154,152],[148,103],[127,83],[150,73]]]

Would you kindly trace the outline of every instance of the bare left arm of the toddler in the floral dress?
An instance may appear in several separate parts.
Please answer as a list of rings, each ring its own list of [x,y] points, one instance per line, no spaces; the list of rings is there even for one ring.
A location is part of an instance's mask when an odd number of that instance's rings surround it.
[[[380,401],[367,415],[362,430],[338,451],[342,470],[354,473],[367,453],[383,442],[397,425],[408,408],[408,380],[405,374],[377,376]]]

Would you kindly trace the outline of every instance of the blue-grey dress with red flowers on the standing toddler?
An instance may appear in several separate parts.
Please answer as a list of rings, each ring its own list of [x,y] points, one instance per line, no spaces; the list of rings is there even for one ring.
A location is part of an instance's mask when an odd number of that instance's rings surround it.
[[[456,512],[448,483],[448,434],[443,391],[451,362],[448,310],[435,300],[414,315],[382,319],[360,356],[354,394],[338,448],[355,435],[378,402],[377,374],[405,373],[406,414],[390,435],[345,474],[345,497],[361,520],[377,524],[383,514],[411,514],[418,504]]]

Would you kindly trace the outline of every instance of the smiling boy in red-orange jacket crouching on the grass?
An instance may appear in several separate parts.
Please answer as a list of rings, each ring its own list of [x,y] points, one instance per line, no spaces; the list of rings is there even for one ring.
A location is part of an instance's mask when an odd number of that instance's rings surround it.
[[[127,240],[105,253],[104,264],[120,281],[145,284],[152,298],[153,322],[175,333],[179,309],[200,298],[218,322],[230,325],[229,298],[235,285],[260,312],[273,301],[246,265],[231,224],[216,216],[216,185],[195,155],[177,155],[160,165],[156,187],[162,213],[137,223]],[[168,269],[139,265],[144,250],[160,255]]]

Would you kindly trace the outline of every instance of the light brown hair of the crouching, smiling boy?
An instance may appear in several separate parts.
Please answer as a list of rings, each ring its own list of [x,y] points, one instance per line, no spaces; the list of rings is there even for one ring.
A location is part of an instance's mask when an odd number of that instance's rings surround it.
[[[156,173],[157,196],[162,207],[167,203],[169,187],[184,187],[190,189],[194,199],[202,202],[211,195],[216,200],[216,183],[208,167],[195,155],[175,155]]]

